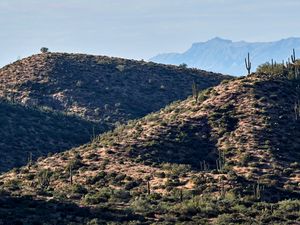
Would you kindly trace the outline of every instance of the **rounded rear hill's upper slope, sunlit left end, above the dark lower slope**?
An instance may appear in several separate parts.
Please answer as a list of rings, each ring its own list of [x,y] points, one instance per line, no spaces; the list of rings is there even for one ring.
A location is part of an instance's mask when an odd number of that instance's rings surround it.
[[[46,53],[0,70],[0,97],[83,118],[124,122],[229,78],[175,66],[105,56]]]

